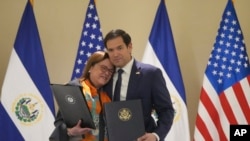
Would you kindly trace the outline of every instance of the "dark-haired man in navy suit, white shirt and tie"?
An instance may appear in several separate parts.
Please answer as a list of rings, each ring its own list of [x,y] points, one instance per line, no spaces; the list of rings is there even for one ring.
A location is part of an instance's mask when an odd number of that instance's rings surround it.
[[[174,118],[174,109],[162,72],[155,66],[138,62],[132,56],[131,37],[121,29],[112,30],[105,36],[104,44],[111,62],[116,66],[113,79],[105,90],[114,101],[118,70],[122,69],[118,100],[141,99],[147,133],[138,141],[163,141]],[[151,116],[155,110],[157,123]]]

